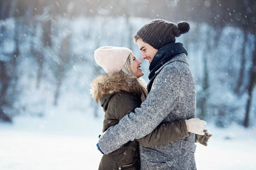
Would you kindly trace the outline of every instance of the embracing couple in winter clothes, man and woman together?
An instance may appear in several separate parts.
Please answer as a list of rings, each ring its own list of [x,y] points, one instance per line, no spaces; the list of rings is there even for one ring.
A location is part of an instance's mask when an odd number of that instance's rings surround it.
[[[104,153],[99,170],[196,170],[195,142],[207,145],[212,136],[206,122],[196,119],[196,88],[188,52],[175,37],[190,30],[154,19],[134,35],[149,61],[146,84],[141,61],[124,47],[95,50],[96,63],[106,74],[90,90],[105,112],[97,144]]]

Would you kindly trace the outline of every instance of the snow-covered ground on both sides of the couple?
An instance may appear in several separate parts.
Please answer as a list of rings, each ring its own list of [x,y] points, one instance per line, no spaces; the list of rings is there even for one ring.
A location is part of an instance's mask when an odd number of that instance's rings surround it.
[[[0,170],[97,170],[102,120],[77,113],[1,123]],[[206,128],[213,136],[207,147],[197,144],[198,170],[256,170],[256,127]]]

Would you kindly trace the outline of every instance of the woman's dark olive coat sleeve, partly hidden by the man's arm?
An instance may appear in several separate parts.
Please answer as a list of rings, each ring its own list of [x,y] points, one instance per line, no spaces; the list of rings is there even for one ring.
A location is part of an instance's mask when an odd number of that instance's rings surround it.
[[[131,93],[116,94],[110,103],[114,108],[115,117],[120,120],[126,114],[140,107],[137,98]],[[148,135],[137,139],[143,146],[155,146],[168,144],[172,141],[179,140],[189,136],[185,120],[161,123]]]

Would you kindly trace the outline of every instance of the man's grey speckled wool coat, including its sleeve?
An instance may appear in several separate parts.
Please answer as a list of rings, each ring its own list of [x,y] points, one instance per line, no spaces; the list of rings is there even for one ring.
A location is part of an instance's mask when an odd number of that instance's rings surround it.
[[[99,139],[105,153],[111,153],[128,141],[142,138],[161,122],[195,118],[196,88],[186,54],[165,63],[156,73],[146,101],[134,112],[109,127]],[[196,170],[195,135],[160,146],[140,145],[141,170]]]

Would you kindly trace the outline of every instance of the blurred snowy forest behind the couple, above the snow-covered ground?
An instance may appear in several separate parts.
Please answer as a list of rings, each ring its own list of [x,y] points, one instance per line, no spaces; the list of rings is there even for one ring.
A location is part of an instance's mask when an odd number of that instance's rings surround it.
[[[156,18],[190,23],[176,42],[189,52],[197,117],[254,125],[255,0],[0,0],[0,123],[67,106],[98,117],[88,92],[104,72],[95,49],[124,46],[141,60],[133,34]]]

